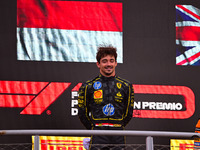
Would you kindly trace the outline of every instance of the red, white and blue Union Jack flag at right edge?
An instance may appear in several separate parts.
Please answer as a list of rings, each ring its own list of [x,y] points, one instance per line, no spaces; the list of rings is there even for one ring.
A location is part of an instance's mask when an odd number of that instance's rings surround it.
[[[176,5],[176,65],[200,65],[200,9]]]

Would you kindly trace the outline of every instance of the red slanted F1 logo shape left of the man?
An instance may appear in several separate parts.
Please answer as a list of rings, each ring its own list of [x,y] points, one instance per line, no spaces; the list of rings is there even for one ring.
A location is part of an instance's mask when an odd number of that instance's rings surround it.
[[[20,114],[41,115],[69,86],[65,82],[0,81],[0,107],[24,108]]]

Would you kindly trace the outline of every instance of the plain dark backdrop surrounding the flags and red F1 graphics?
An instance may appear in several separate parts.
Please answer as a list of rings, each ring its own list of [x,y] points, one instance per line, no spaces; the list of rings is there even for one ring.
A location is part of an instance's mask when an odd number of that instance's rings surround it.
[[[90,0],[92,1],[92,0]],[[197,1],[101,0],[123,3],[123,64],[117,75],[133,84],[187,86],[195,94],[195,113],[188,119],[133,118],[127,130],[194,132],[200,116],[198,66],[176,66],[175,5]],[[71,116],[71,89],[79,82],[96,77],[95,63],[18,61],[16,52],[17,1],[0,4],[0,80],[70,82],[71,86],[42,115],[20,115],[21,108],[0,108],[0,130],[84,129]],[[135,95],[137,99],[138,95]],[[1,143],[31,142],[27,136],[0,137]],[[127,137],[128,143],[145,143],[145,137]],[[154,143],[169,144],[168,138]]]

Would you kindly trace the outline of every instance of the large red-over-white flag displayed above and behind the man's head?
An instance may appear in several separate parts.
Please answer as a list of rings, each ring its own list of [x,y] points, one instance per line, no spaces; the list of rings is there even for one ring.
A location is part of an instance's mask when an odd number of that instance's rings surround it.
[[[17,59],[96,62],[97,47],[123,62],[122,3],[17,0]]]

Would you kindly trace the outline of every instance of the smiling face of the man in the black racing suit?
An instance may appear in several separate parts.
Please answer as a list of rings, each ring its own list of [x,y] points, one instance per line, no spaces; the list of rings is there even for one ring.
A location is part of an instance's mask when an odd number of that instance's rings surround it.
[[[100,63],[97,62],[97,67],[100,69],[100,73],[103,76],[110,77],[115,75],[115,67],[117,66],[117,61],[114,56],[107,55],[100,59]]]

